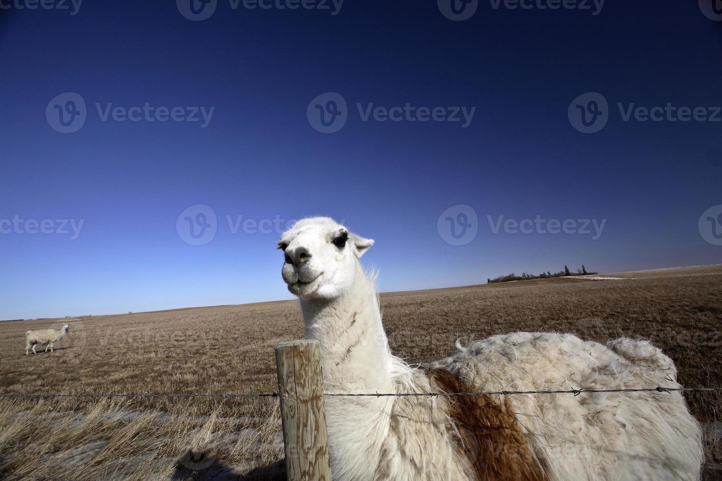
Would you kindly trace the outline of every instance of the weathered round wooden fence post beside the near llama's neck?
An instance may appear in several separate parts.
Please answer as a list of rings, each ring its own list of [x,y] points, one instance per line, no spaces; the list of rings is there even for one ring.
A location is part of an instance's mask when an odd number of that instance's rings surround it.
[[[317,340],[276,346],[288,481],[331,481],[329,440]]]

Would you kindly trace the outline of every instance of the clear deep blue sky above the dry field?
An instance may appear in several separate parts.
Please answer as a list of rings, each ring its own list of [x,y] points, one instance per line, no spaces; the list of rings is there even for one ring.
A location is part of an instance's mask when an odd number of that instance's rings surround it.
[[[722,22],[695,2],[610,1],[593,14],[481,1],[464,21],[410,0],[347,0],[336,14],[331,2],[217,0],[201,21],[173,1],[85,0],[74,14],[17,2],[0,9],[0,319],[290,299],[275,229],[234,233],[227,216],[344,219],[376,240],[364,262],[383,291],[565,264],[721,262],[698,221],[722,204],[722,122],[713,121]],[[53,112],[75,111],[57,97],[65,92],[86,104],[72,133],[53,128]],[[347,104],[334,133],[307,116],[318,96],[329,107],[326,92]],[[568,116],[586,92],[608,102],[596,133]],[[589,98],[578,105],[591,109]],[[708,120],[622,115],[668,102],[704,108]],[[113,118],[113,108],[123,118],[146,104],[154,121]],[[419,107],[474,113],[466,127],[363,118],[407,104],[422,117]],[[201,120],[161,121],[158,107]],[[207,122],[194,107],[213,109]],[[176,229],[196,205],[217,216],[214,237],[197,246]],[[464,245],[438,229],[458,205],[478,218]],[[585,219],[605,224],[592,239],[494,233],[487,218],[537,215],[573,219],[577,230]],[[43,234],[45,219],[45,231],[69,233]],[[76,239],[70,221],[82,221]]]

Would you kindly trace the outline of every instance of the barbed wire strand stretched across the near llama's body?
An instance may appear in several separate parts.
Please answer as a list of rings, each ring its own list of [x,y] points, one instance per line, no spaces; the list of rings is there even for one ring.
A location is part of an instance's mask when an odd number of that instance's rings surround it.
[[[326,392],[328,397],[437,397],[437,396],[509,396],[515,394],[579,394],[586,393],[622,393],[622,392],[674,392],[674,391],[722,391],[722,387],[645,387],[630,389],[556,389],[543,391],[487,391],[487,392],[373,392],[373,393],[335,393]],[[109,398],[109,397],[139,397],[139,398],[162,398],[162,397],[186,397],[186,398],[221,398],[232,399],[239,397],[279,397],[277,392],[259,392],[248,394],[0,394],[0,398],[37,399],[52,397],[77,397],[77,398]]]

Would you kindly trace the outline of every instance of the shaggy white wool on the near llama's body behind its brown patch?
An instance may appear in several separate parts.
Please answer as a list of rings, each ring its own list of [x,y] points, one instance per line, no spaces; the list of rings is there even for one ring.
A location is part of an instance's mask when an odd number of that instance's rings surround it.
[[[514,332],[477,341],[441,364],[484,391],[680,387],[668,357],[648,341],[625,338],[604,346],[570,334]],[[550,480],[700,478],[700,426],[679,392],[509,400]]]

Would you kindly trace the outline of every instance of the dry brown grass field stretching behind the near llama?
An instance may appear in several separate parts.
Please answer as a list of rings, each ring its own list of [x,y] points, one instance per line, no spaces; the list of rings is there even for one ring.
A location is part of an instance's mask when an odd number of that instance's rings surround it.
[[[457,338],[516,330],[651,339],[686,386],[722,386],[722,266],[381,295],[394,353],[434,361]],[[69,322],[54,353],[25,331]],[[274,346],[303,337],[297,301],[0,323],[0,393],[274,392]],[[722,394],[688,393],[722,463]],[[278,401],[1,399],[0,472],[74,480],[280,480]],[[189,448],[205,457],[183,456]],[[0,475],[2,479],[3,475]],[[19,479],[19,478],[12,478]]]

